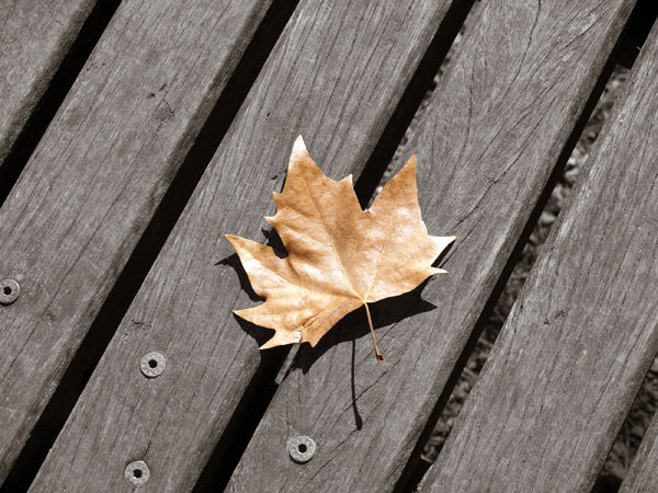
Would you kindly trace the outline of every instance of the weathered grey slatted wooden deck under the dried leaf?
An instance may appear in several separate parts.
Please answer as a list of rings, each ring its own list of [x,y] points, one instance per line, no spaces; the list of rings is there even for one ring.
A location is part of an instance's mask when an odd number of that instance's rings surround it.
[[[647,3],[0,5],[2,491],[410,491]],[[658,25],[640,51],[423,491],[597,480],[658,353]],[[274,241],[298,134],[362,204],[418,153],[457,237],[449,276],[373,306],[384,364],[359,317],[286,358],[231,314],[258,297],[223,234]],[[657,429],[624,491],[658,491]]]

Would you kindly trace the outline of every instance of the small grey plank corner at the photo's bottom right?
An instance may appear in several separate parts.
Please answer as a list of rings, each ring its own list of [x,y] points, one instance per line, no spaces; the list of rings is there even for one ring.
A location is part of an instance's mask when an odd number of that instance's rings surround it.
[[[658,416],[654,416],[649,429],[642,439],[639,449],[626,472],[620,491],[645,493],[658,491]]]

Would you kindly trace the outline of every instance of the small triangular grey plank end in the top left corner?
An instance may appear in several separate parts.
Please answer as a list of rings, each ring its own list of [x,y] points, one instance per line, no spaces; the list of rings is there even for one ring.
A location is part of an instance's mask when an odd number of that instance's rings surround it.
[[[94,3],[94,0],[0,3],[0,163]]]

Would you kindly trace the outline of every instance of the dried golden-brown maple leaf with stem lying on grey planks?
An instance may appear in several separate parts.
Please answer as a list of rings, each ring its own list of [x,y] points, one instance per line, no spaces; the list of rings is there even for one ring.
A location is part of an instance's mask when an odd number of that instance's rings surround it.
[[[291,154],[285,186],[273,193],[276,215],[265,218],[279,232],[288,255],[227,234],[253,290],[265,298],[239,317],[274,329],[261,349],[320,337],[345,314],[367,303],[407,293],[433,274],[432,262],[455,237],[431,237],[420,217],[416,156],[363,211],[352,175],[340,182],[315,164],[302,137]]]

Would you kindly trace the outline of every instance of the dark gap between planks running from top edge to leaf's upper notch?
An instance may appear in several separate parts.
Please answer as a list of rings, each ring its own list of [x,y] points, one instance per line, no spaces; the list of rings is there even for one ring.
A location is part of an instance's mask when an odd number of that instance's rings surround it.
[[[362,208],[367,207],[368,200],[375,194],[388,163],[402,141],[405,133],[418,112],[423,98],[432,87],[434,77],[439,73],[439,69],[474,3],[475,0],[453,1],[422,56],[413,77],[354,185]]]

